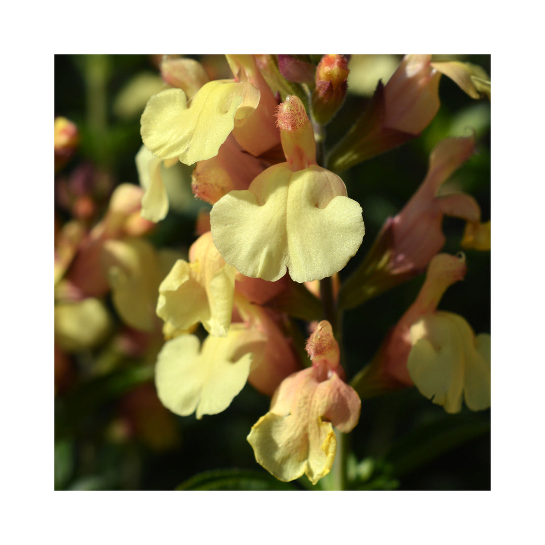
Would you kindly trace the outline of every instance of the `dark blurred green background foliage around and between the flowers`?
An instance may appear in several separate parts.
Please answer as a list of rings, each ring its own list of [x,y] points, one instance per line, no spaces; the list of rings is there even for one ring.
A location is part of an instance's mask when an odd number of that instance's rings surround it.
[[[231,76],[222,56],[190,57],[200,60],[211,78]],[[66,253],[66,263],[74,247],[70,240],[81,240],[78,229],[89,233],[100,224],[114,189],[120,184],[138,185],[135,155],[142,145],[140,116],[149,97],[166,88],[160,77],[161,58],[55,57],[55,116],[77,128],[60,128],[68,144],[56,153],[56,252]],[[348,131],[378,79],[386,82],[401,58],[352,57],[349,93],[328,125],[327,147]],[[490,56],[456,58],[478,64],[490,75]],[[358,254],[341,271],[341,280],[361,262],[386,218],[403,207],[425,178],[433,147],[447,136],[467,136],[468,128],[475,131],[477,153],[448,185],[473,195],[482,221],[490,218],[490,103],[470,99],[446,77],[441,78],[439,96],[440,110],[421,137],[343,173],[348,195],[363,209],[366,235]],[[156,226],[136,220],[130,226],[156,251],[186,255],[196,239],[199,214],[210,207],[193,198],[191,169],[183,165],[175,169],[177,181],[169,192],[166,219]],[[77,227],[70,231],[74,220]],[[443,251],[460,250],[463,229],[463,221],[445,218]],[[88,253],[92,255],[92,250]],[[490,332],[490,253],[465,253],[465,281],[447,290],[440,308],[461,314],[476,333]],[[87,271],[87,277],[71,284],[60,280],[55,288],[55,488],[312,488],[306,478],[288,485],[275,482],[255,462],[246,435],[267,413],[269,399],[250,385],[223,413],[201,421],[164,409],[153,385],[153,366],[161,347],[158,330],[143,332],[126,325],[110,292],[86,284],[86,293],[95,289],[99,301],[100,310],[93,314],[96,329],[84,340],[71,336],[70,324],[77,322],[81,309],[76,312],[67,301],[77,300],[83,283],[89,282],[89,263],[93,263],[89,260],[77,267],[71,262],[71,269],[66,269],[74,278],[78,276],[74,268]],[[60,267],[59,276],[66,270]],[[386,332],[414,301],[422,280],[422,275],[417,276],[345,313],[348,379],[371,360]],[[360,488],[490,488],[489,410],[472,413],[464,407],[457,415],[447,415],[414,388],[398,391],[362,402],[350,444]]]

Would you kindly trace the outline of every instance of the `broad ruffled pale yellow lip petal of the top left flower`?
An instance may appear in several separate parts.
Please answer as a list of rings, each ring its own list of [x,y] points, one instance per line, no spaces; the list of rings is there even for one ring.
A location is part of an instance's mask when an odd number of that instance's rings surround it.
[[[141,118],[144,146],[160,159],[178,157],[186,165],[217,155],[235,126],[259,104],[259,90],[249,82],[216,80],[204,84],[190,104],[181,89],[167,89],[149,99]]]

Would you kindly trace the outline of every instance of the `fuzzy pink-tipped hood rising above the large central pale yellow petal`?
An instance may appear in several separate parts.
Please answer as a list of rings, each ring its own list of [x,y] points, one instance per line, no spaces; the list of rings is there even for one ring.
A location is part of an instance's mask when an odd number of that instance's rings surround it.
[[[276,124],[287,162],[294,171],[316,164],[316,141],[301,99],[289,95],[278,106]]]

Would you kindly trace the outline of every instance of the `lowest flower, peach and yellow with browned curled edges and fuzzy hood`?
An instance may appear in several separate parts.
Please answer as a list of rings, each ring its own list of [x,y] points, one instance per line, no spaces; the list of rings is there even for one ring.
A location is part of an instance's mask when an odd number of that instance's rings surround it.
[[[337,439],[333,427],[350,432],[360,398],[338,376],[338,344],[329,322],[320,322],[307,343],[312,367],[282,381],[269,412],[248,435],[256,460],[281,481],[303,474],[315,485],[331,470]]]

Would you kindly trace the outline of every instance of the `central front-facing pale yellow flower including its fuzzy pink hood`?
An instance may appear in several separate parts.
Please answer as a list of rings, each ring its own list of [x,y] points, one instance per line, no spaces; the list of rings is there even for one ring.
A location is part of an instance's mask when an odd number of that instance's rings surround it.
[[[359,203],[336,174],[316,165],[316,144],[304,106],[290,97],[279,107],[287,162],[273,165],[248,190],[214,204],[210,226],[227,263],[245,276],[296,282],[331,276],[361,244]]]

